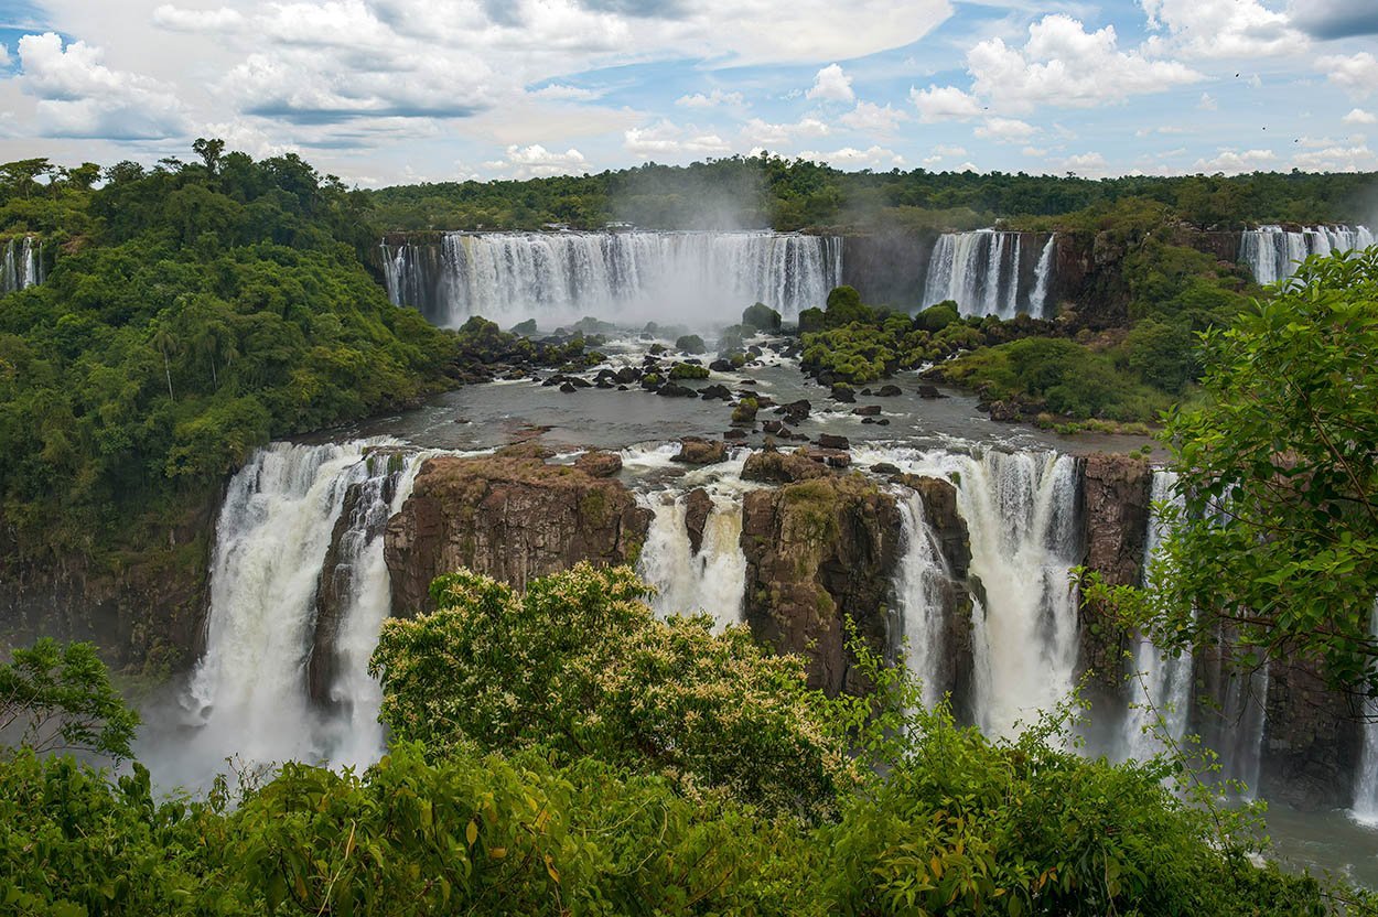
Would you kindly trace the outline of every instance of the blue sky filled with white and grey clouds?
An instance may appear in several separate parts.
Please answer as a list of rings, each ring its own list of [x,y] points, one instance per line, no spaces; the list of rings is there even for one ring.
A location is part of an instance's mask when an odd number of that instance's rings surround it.
[[[1378,0],[0,0],[0,161],[1378,169]]]

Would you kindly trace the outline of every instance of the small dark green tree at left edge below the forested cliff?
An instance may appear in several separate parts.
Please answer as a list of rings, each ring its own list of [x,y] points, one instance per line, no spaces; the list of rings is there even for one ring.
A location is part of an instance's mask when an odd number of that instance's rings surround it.
[[[90,643],[43,639],[0,665],[0,732],[23,748],[125,759],[138,724]]]

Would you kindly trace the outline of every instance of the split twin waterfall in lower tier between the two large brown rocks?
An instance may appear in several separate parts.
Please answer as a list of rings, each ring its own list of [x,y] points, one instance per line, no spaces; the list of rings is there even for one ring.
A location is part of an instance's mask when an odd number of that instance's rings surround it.
[[[711,494],[697,552],[689,540],[686,494],[666,490],[638,498],[655,514],[638,573],[657,589],[652,600],[656,614],[707,611],[719,629],[739,624],[747,592],[740,497]]]

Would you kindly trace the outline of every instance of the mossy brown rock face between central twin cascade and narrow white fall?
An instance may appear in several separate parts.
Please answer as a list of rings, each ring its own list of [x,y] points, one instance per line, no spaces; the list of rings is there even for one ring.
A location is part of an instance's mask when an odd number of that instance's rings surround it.
[[[863,693],[867,684],[845,647],[845,620],[852,617],[876,651],[889,649],[887,606],[900,551],[894,498],[860,475],[827,471],[779,490],[755,490],[743,507],[741,549],[752,633],[781,653],[803,655],[812,686],[831,695]]]

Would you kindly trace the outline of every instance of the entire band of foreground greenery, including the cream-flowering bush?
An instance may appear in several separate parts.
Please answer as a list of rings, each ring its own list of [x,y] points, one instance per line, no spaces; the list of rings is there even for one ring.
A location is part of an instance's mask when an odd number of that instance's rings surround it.
[[[1075,708],[1013,742],[925,709],[857,644],[868,698],[805,687],[739,626],[657,618],[626,569],[524,593],[473,573],[373,657],[390,752],[160,799],[30,746],[0,753],[0,902],[61,914],[1257,914],[1374,899],[1257,866],[1209,763],[1068,750]],[[0,715],[128,755],[90,647],[0,666]],[[79,704],[83,702],[84,704]],[[73,704],[69,710],[65,705]],[[66,730],[68,713],[74,728]],[[116,720],[102,728],[99,716]],[[121,719],[123,717],[123,719]]]

